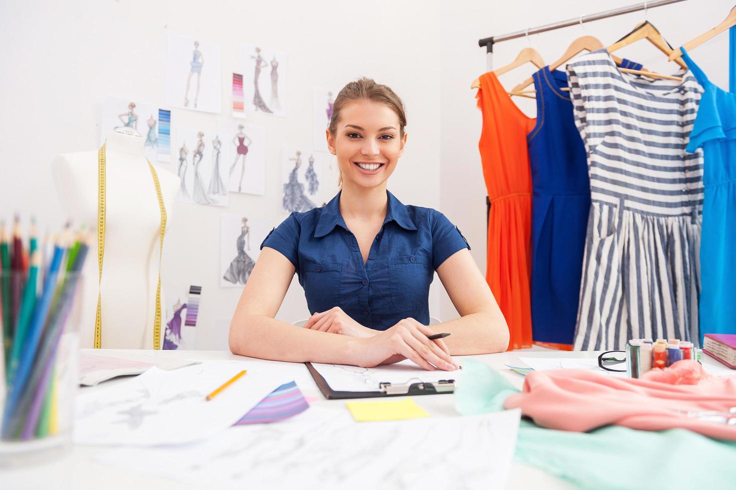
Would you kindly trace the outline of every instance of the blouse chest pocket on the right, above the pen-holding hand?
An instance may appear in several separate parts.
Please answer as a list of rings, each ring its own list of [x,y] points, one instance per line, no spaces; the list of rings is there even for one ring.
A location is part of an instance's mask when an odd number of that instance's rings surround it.
[[[408,311],[427,301],[429,267],[428,256],[401,255],[389,258],[391,301],[396,309]]]

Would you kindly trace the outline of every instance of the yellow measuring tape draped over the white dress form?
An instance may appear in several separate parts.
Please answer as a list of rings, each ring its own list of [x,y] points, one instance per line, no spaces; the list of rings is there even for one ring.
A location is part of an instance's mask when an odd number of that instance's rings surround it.
[[[159,248],[158,248],[158,286],[156,287],[156,314],[153,320],[153,348],[161,347],[161,253],[163,251],[163,231],[166,230],[166,206],[163,206],[163,195],[161,195],[161,186],[158,183],[158,174],[151,162],[146,159],[151,176],[153,177],[153,185],[156,187],[156,197],[158,197],[158,207],[161,211],[161,225],[159,230]],[[105,256],[105,145],[103,144],[97,152],[97,168],[99,195],[97,196],[97,263],[99,265],[98,287],[102,287],[102,257]],[[94,326],[94,348],[102,347],[102,290],[97,293],[97,318]]]

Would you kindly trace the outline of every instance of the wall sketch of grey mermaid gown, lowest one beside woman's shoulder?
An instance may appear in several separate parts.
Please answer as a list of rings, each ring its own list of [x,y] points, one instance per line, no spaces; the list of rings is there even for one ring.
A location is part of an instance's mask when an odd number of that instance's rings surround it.
[[[220,270],[222,287],[244,286],[261,253],[263,239],[271,231],[266,220],[252,214],[222,215]]]

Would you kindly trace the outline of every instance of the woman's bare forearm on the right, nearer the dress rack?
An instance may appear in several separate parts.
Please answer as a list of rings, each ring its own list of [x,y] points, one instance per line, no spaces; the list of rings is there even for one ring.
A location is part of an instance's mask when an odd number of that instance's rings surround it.
[[[455,320],[431,325],[435,333],[452,335],[445,339],[450,355],[491,354],[509,348],[509,327],[498,312],[477,312]]]

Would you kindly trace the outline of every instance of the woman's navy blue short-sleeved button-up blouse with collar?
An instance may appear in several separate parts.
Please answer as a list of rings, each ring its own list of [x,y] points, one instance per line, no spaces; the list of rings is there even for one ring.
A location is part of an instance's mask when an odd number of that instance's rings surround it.
[[[391,192],[386,219],[363,262],[340,214],[340,193],[322,208],[294,212],[261,243],[294,264],[309,312],[340,307],[371,329],[403,318],[429,323],[429,284],[447,257],[468,248],[444,214],[404,206]]]

